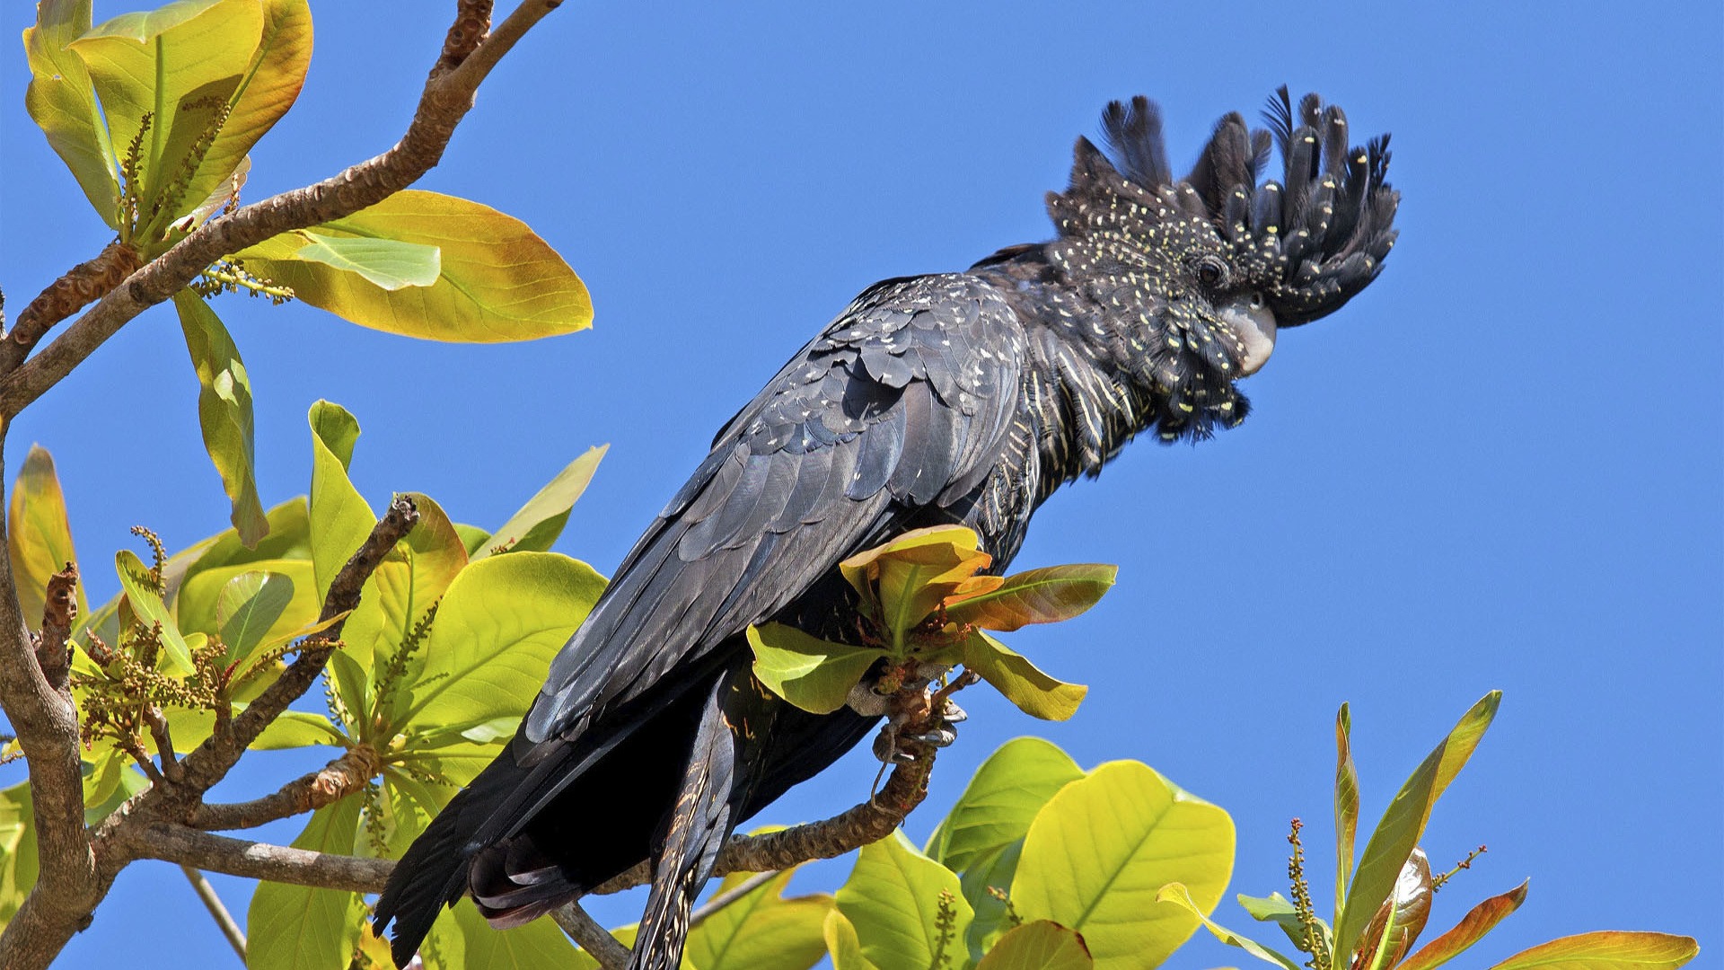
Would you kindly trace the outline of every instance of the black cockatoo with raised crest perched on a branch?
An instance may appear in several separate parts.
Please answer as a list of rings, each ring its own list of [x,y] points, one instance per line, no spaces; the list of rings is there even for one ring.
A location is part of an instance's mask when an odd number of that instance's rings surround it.
[[[1112,102],[1105,148],[1079,136],[1071,183],[1046,195],[1053,238],[874,283],[803,345],[646,526],[503,753],[395,866],[374,910],[395,961],[462,896],[521,925],[652,860],[629,967],[678,967],[738,823],[878,723],[772,696],[750,625],[857,642],[841,559],[962,525],[1003,570],[1036,507],[1136,435],[1240,425],[1238,381],[1281,330],[1377,278],[1400,202],[1388,135],[1352,145],[1340,107],[1286,86],[1262,117],[1221,117],[1176,178],[1160,109]]]

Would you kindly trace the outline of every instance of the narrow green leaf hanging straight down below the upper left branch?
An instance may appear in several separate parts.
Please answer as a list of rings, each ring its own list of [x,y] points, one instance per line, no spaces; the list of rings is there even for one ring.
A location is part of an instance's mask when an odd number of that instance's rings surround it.
[[[257,447],[252,421],[252,378],[240,349],[216,311],[191,290],[174,293],[179,328],[186,335],[191,366],[198,371],[198,425],[222,488],[233,502],[240,542],[257,545],[269,533],[264,504],[257,501]]]

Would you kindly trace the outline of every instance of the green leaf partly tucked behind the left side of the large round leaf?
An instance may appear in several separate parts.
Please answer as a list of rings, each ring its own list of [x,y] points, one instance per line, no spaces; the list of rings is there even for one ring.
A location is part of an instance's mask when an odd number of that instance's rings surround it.
[[[964,794],[928,842],[928,854],[953,872],[1029,832],[1029,823],[1083,768],[1050,740],[1019,737],[1002,744],[976,768]],[[1002,889],[1009,887],[1002,885]]]

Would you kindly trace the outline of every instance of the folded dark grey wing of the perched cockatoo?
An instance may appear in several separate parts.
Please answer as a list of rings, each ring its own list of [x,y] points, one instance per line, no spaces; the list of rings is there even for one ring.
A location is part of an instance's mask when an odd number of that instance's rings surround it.
[[[578,737],[991,468],[1024,333],[964,274],[864,292],[726,425],[552,661],[524,740]],[[533,754],[526,756],[528,761]]]

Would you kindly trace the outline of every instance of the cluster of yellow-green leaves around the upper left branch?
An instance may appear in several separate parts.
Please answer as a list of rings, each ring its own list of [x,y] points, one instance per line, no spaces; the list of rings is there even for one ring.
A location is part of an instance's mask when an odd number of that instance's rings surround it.
[[[305,83],[312,17],[307,0],[181,0],[91,26],[90,0],[41,0],[24,54],[31,119],[136,266],[238,204],[252,147]],[[434,192],[398,192],[217,259],[174,309],[203,444],[248,547],[271,528],[252,380],[207,300],[241,290],[428,340],[531,340],[593,316],[586,287],[533,230]]]

